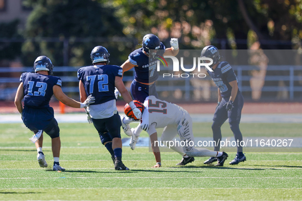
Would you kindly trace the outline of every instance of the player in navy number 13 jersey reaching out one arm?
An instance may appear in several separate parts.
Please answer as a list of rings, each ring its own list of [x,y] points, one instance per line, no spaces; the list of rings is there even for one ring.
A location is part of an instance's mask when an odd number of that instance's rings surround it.
[[[53,64],[48,57],[40,56],[34,62],[35,73],[25,72],[21,74],[20,85],[18,87],[15,105],[21,114],[21,118],[34,136],[30,139],[35,143],[38,152],[38,162],[40,167],[47,167],[44,154],[42,152],[43,131],[52,138],[52,152],[54,157],[54,171],[64,171],[60,166],[60,129],[54,118],[54,110],[49,102],[53,94],[63,104],[73,108],[84,108],[94,103],[94,97],[89,96],[84,103],[75,101],[67,97],[62,89],[60,78],[52,76]],[[24,98],[24,107],[22,99]]]

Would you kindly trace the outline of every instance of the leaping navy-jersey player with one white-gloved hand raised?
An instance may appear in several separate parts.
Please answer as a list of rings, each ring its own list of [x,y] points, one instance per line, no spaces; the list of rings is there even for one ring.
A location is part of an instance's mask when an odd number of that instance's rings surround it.
[[[155,81],[158,78],[158,72],[156,70],[157,58],[153,55],[149,55],[149,49],[161,49],[164,50],[164,56],[176,56],[179,52],[178,39],[171,38],[170,45],[172,47],[166,48],[159,38],[153,34],[147,34],[143,38],[142,48],[133,51],[127,61],[122,64],[123,73],[134,67],[135,76],[131,83],[130,92],[132,97],[144,103],[146,97],[154,95],[158,97],[155,88]],[[150,59],[150,63],[149,63]],[[118,94],[118,91],[115,93]],[[128,117],[122,117],[122,127],[126,135],[131,136],[129,123],[132,122]]]

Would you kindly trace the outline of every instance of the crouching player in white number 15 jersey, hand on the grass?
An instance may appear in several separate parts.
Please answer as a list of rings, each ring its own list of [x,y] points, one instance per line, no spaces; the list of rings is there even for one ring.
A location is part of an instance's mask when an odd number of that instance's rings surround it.
[[[144,102],[145,109],[142,114],[141,123],[135,129],[131,129],[132,137],[130,141],[131,149],[135,148],[140,133],[145,130],[151,140],[152,151],[155,156],[156,165],[161,166],[159,143],[157,139],[157,128],[164,128],[161,134],[160,142],[167,144],[167,141],[172,141],[178,134],[180,141],[184,141],[184,146],[174,143],[170,146],[175,152],[182,156],[182,160],[176,165],[186,165],[194,161],[194,157],[217,157],[217,166],[223,166],[224,161],[228,155],[225,152],[214,152],[208,149],[196,149],[192,142],[194,142],[194,135],[192,129],[192,118],[190,114],[182,107],[161,101],[155,96],[148,96]],[[191,142],[191,143],[190,143]],[[169,142],[168,142],[169,143]]]

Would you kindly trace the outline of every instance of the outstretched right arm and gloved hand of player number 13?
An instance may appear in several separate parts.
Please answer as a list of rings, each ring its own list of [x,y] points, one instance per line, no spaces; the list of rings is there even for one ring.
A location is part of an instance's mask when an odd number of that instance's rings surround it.
[[[61,87],[58,85],[55,85],[53,87],[53,91],[55,97],[66,106],[70,106],[73,108],[85,108],[90,104],[95,103],[95,97],[92,97],[91,95],[87,97],[84,103],[77,102],[74,99],[66,96],[65,93],[62,91]]]

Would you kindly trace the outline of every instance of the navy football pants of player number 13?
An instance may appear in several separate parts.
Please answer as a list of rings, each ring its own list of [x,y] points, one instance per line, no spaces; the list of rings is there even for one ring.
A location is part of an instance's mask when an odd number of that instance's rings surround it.
[[[34,133],[37,133],[38,130],[43,130],[51,138],[60,136],[59,125],[54,117],[54,109],[52,107],[36,109],[24,106],[22,120],[26,127]]]

